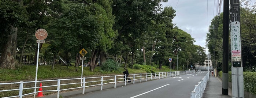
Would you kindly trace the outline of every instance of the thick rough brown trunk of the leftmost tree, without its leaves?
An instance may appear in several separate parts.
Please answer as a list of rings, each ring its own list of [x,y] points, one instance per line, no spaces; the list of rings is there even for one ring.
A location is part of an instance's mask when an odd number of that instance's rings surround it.
[[[14,33],[8,35],[7,42],[3,45],[0,57],[0,67],[8,69],[16,69],[16,46],[17,46],[17,27],[11,28]],[[19,65],[18,65],[19,66]]]

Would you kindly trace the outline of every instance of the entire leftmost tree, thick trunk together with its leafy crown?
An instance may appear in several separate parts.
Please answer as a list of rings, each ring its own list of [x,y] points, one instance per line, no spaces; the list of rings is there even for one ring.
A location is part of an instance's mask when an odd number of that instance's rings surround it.
[[[16,0],[0,1],[0,32],[1,32],[1,57],[0,67],[15,69],[16,42],[18,27],[27,20],[27,11],[23,2]]]

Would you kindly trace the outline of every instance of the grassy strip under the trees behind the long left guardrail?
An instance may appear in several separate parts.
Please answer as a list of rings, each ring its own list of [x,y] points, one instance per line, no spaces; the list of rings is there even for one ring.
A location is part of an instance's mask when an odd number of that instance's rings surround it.
[[[65,78],[65,77],[80,77],[82,67],[78,67],[78,71],[75,71],[76,67],[66,67],[62,65],[55,65],[54,70],[51,69],[51,65],[38,66],[37,79],[49,79],[49,78]],[[106,74],[122,74],[125,71],[123,68],[118,68],[115,71],[103,71],[100,67],[96,67],[94,71],[90,71],[89,67],[83,68],[83,76],[92,75],[106,75]],[[139,69],[128,68],[129,73],[146,73]],[[18,69],[0,69],[0,81],[13,81],[13,80],[33,80],[36,77],[36,65],[22,65]]]

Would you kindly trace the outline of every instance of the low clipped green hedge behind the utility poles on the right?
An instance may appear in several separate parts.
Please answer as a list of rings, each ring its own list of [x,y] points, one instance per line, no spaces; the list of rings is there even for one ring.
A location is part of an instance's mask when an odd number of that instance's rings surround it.
[[[222,78],[222,71],[218,73],[219,77]],[[251,94],[256,94],[256,72],[244,72],[244,90]],[[229,82],[232,82],[231,71],[229,71]]]

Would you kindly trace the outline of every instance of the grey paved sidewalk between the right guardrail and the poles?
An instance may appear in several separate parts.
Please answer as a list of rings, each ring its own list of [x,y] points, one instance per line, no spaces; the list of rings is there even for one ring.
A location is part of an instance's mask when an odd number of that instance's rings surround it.
[[[207,82],[203,98],[232,98],[232,89],[229,88],[229,95],[222,95],[222,80],[219,77],[211,76]]]

